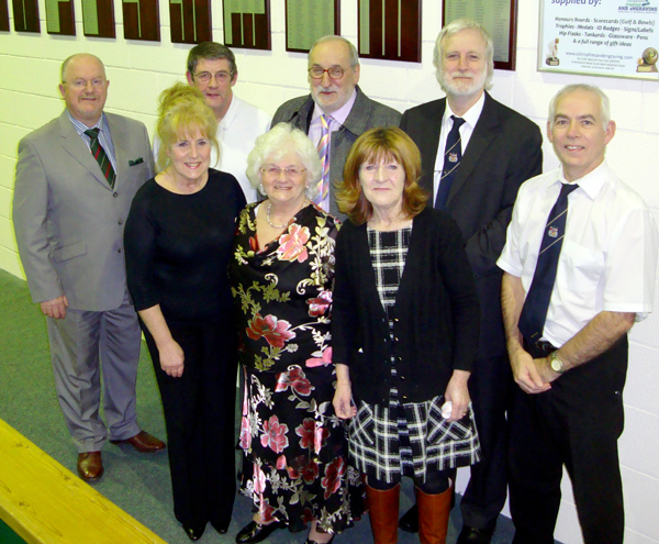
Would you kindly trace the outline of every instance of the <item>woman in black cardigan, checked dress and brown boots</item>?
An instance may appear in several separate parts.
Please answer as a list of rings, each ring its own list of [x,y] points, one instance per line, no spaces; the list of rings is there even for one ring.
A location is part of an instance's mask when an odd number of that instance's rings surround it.
[[[425,208],[421,156],[400,129],[373,129],[350,151],[337,201],[332,321],[334,408],[367,475],[376,543],[395,542],[400,480],[416,485],[422,543],[444,543],[449,476],[480,459],[467,380],[479,306],[463,241]]]

